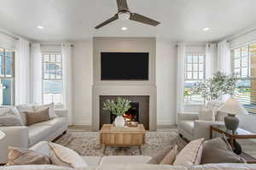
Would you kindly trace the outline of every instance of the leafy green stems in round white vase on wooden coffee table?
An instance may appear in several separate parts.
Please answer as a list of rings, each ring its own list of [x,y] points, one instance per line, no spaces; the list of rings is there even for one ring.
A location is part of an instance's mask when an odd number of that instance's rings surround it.
[[[125,127],[124,113],[131,108],[131,100],[125,98],[118,98],[116,100],[107,99],[103,103],[103,109],[110,111],[110,114],[116,116],[114,120],[114,125],[116,127]]]

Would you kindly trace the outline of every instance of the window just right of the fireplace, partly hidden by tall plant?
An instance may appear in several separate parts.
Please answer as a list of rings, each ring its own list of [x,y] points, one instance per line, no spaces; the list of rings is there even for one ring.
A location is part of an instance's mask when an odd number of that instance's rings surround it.
[[[201,105],[204,99],[201,95],[191,94],[191,88],[195,82],[205,80],[205,54],[185,55],[185,82],[184,82],[184,102],[185,104]]]

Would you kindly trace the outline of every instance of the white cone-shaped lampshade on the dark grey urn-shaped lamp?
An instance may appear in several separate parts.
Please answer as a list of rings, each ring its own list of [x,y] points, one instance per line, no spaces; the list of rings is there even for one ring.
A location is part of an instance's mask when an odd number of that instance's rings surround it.
[[[228,99],[224,102],[218,111],[222,111],[224,113],[229,113],[232,115],[247,115],[246,109],[234,98]]]

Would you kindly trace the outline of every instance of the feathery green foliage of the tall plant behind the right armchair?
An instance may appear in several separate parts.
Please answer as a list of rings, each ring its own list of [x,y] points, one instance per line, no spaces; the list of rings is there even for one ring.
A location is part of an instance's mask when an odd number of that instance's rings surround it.
[[[216,72],[212,78],[204,82],[195,82],[191,88],[192,94],[201,94],[204,99],[211,101],[218,99],[224,94],[235,94],[236,77],[234,74],[226,75],[223,72]]]

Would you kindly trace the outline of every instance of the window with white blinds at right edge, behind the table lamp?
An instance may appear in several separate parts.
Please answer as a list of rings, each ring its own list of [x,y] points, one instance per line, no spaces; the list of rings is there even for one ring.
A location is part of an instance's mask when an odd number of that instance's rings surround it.
[[[231,50],[232,69],[236,74],[236,95],[242,105],[256,113],[256,43]]]

